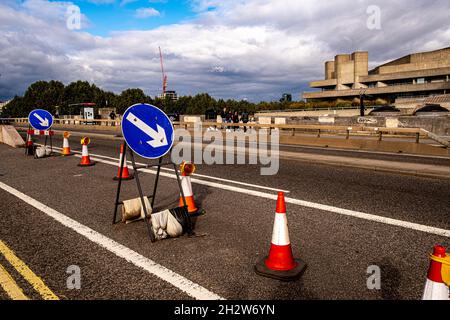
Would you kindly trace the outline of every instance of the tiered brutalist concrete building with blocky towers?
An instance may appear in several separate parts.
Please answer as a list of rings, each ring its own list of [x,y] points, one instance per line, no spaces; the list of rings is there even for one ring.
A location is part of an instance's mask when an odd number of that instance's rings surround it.
[[[410,54],[373,70],[368,52],[340,54],[325,63],[325,80],[310,86],[320,91],[303,93],[309,102],[352,101],[361,93],[385,103],[450,94],[450,47]]]

